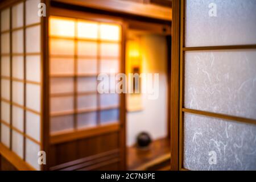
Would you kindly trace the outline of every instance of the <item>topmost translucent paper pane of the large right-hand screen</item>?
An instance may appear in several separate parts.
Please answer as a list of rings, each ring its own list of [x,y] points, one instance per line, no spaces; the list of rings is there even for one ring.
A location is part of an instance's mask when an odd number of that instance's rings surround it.
[[[254,0],[187,0],[185,11],[186,47],[256,43]]]

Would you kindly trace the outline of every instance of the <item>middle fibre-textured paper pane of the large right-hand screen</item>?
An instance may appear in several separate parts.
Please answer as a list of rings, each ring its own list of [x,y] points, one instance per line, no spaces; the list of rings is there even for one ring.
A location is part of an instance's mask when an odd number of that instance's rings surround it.
[[[185,107],[256,119],[255,57],[253,49],[186,52]]]

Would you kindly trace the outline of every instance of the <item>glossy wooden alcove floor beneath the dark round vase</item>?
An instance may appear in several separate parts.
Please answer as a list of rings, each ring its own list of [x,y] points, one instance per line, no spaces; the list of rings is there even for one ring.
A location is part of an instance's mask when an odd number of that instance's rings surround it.
[[[148,149],[139,149],[136,146],[127,148],[128,170],[155,170],[170,168],[171,157],[170,139],[154,140]],[[155,166],[155,167],[154,167]]]

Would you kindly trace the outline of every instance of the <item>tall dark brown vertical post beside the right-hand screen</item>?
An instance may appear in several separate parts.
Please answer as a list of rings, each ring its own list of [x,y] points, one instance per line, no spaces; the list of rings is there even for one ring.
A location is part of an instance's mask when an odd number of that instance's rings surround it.
[[[179,170],[180,0],[172,0],[171,171]]]

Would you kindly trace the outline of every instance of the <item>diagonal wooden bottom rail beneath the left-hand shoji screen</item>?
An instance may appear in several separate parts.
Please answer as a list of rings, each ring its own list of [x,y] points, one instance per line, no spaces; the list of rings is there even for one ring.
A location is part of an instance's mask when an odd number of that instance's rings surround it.
[[[19,171],[35,171],[35,168],[20,159],[18,155],[10,151],[9,148],[4,146],[2,143],[0,143],[0,154]]]

